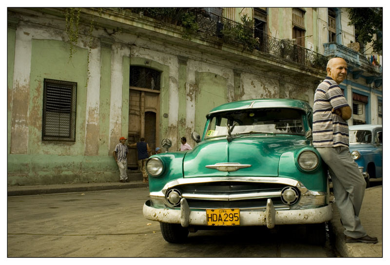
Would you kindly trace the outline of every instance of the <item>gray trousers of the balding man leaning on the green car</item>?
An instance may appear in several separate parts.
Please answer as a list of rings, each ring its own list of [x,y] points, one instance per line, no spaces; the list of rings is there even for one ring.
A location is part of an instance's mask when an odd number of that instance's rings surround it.
[[[349,149],[338,146],[317,148],[317,151],[329,168],[344,234],[353,238],[367,235],[359,219],[366,182]]]

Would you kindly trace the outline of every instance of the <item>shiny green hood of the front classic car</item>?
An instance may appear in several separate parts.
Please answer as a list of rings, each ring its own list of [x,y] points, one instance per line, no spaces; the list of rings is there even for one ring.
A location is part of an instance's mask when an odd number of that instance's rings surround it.
[[[308,145],[303,136],[267,135],[241,136],[230,143],[226,138],[210,139],[199,143],[186,153],[183,161],[185,178],[212,176],[278,176],[282,153]],[[217,163],[251,165],[236,171],[206,168]]]

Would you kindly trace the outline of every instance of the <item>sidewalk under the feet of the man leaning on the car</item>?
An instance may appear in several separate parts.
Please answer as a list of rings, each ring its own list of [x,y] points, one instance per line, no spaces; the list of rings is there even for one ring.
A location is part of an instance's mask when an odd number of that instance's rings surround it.
[[[332,208],[333,218],[330,225],[335,236],[335,246],[342,257],[383,257],[382,185],[366,189],[359,215],[367,233],[378,238],[376,244],[345,243],[339,211],[335,204],[332,204]]]

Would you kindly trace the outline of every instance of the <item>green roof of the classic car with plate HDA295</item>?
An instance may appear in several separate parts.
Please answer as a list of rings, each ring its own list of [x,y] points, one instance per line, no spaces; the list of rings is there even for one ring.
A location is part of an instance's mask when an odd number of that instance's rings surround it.
[[[262,109],[262,108],[292,108],[292,109],[303,110],[305,112],[312,112],[312,107],[309,105],[309,103],[302,100],[289,99],[289,98],[267,98],[267,99],[248,99],[248,100],[225,103],[212,109],[206,115],[206,117],[209,117],[211,114],[225,112],[225,111]]]

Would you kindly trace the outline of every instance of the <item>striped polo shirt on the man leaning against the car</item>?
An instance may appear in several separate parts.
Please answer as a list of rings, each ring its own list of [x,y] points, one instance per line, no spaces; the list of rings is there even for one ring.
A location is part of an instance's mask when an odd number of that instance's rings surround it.
[[[314,94],[313,146],[349,147],[348,123],[332,109],[349,106],[337,82],[327,76]]]

